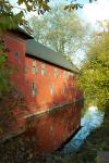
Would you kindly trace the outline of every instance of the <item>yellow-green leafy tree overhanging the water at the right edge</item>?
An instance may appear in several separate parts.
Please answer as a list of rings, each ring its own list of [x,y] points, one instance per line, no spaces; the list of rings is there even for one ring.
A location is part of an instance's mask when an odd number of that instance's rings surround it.
[[[88,47],[81,73],[80,85],[86,101],[99,108],[109,105],[109,33],[100,33]]]

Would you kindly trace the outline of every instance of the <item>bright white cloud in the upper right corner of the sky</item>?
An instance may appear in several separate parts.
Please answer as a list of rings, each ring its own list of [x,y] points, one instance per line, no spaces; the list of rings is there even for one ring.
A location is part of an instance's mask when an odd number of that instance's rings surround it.
[[[94,3],[86,3],[83,8],[83,13],[92,24],[97,21],[109,20],[109,0],[98,0]]]

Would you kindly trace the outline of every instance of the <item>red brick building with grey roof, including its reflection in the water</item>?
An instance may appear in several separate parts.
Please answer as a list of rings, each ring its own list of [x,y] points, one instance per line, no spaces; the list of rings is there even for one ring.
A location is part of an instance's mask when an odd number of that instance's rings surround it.
[[[27,105],[26,111],[13,111],[17,125],[12,135],[26,133],[36,137],[38,151],[53,151],[81,125],[83,95],[76,86],[77,68],[21,28],[3,38],[10,49],[8,62],[19,70],[11,75],[11,83]]]

